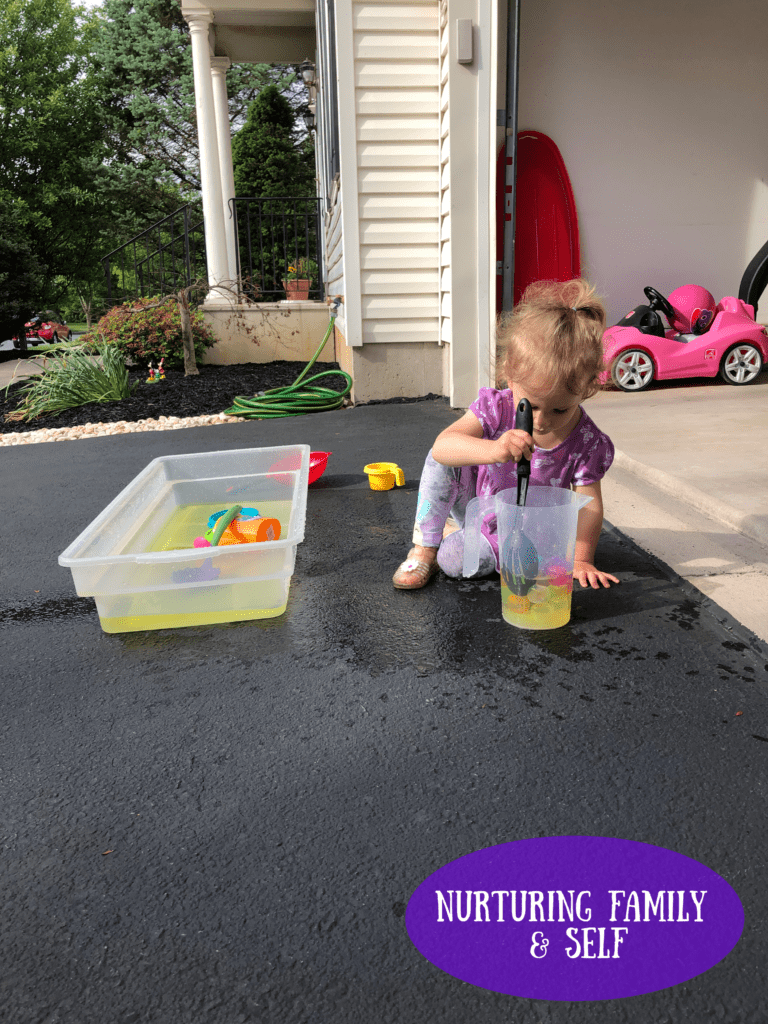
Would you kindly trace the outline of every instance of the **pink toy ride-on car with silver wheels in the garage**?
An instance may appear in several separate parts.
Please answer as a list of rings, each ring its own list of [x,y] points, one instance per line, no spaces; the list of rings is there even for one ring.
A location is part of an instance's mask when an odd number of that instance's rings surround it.
[[[669,299],[654,288],[644,292],[648,305],[636,306],[603,335],[609,368],[603,383],[642,391],[653,380],[720,374],[727,384],[750,384],[768,361],[768,337],[755,323],[755,306],[731,295],[716,305],[698,285],[684,285]]]

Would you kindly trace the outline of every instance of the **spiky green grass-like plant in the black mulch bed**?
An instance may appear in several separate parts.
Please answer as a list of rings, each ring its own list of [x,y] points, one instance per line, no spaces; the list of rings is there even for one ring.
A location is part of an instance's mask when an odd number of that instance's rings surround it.
[[[91,354],[94,348],[98,361]],[[29,421],[90,401],[119,401],[129,398],[137,383],[133,386],[128,383],[128,370],[114,345],[81,345],[61,350],[46,358],[39,377],[19,388],[24,398],[10,418]]]

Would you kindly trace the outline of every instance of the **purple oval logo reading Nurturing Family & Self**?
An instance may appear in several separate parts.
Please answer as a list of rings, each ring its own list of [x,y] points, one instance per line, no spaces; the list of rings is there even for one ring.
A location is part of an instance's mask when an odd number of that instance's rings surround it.
[[[647,843],[552,836],[477,850],[411,897],[430,963],[526,999],[616,999],[679,985],[735,946],[741,901],[715,871]]]

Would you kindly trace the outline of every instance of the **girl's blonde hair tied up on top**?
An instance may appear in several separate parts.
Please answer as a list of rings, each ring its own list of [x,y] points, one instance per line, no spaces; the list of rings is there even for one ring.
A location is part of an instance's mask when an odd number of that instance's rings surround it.
[[[605,306],[583,279],[538,281],[497,321],[499,383],[543,378],[589,398],[604,371]],[[539,385],[541,386],[541,385]]]

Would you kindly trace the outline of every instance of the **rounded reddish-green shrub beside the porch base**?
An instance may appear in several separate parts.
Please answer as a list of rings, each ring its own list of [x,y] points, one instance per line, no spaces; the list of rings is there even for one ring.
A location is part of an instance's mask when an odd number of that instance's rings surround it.
[[[189,317],[195,355],[202,359],[206,348],[215,345],[216,339],[200,310],[190,310]],[[134,362],[146,366],[165,359],[168,369],[181,369],[184,366],[181,314],[174,298],[162,301],[159,298],[138,299],[123,306],[115,306],[104,313],[93,329],[93,335],[117,345]]]

